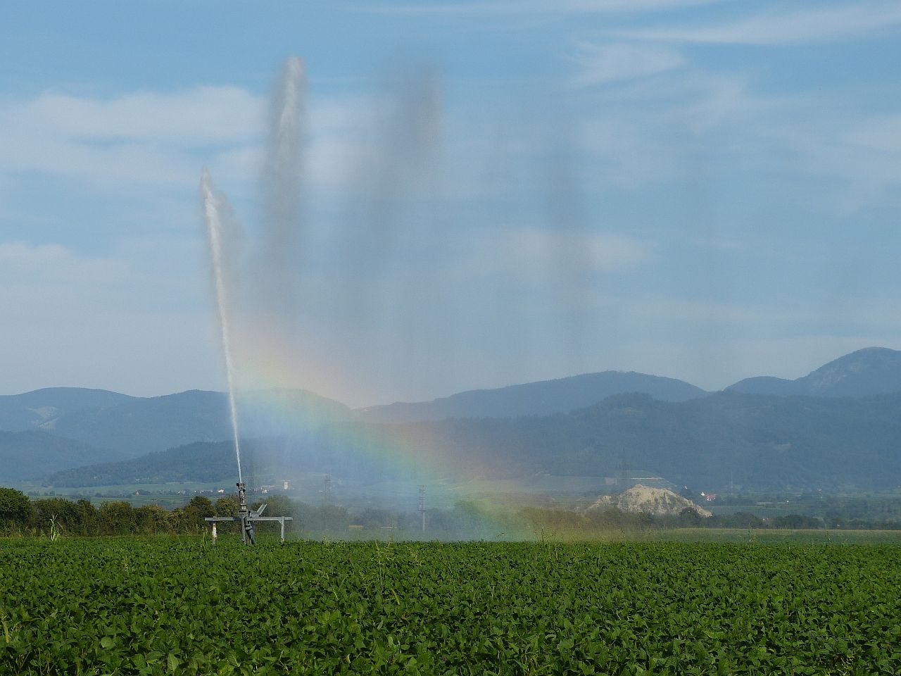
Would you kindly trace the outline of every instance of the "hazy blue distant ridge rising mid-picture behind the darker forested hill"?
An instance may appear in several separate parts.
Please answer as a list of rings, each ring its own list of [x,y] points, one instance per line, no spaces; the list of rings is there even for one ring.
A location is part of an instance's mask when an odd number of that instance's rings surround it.
[[[415,423],[444,418],[549,416],[593,406],[615,394],[638,392],[661,401],[687,401],[707,392],[683,380],[606,370],[497,389],[474,389],[432,401],[360,408],[367,423]]]

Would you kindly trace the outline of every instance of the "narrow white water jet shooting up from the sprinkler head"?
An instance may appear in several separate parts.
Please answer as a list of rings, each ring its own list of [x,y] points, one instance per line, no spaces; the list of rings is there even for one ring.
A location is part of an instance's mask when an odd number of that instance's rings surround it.
[[[205,168],[203,176],[200,178],[200,198],[203,200],[204,204],[206,239],[209,244],[210,258],[213,263],[216,314],[219,316],[219,328],[222,333],[225,379],[228,382],[228,406],[232,416],[234,452],[238,461],[238,481],[243,482],[243,477],[241,476],[241,443],[238,438],[238,411],[234,402],[234,365],[232,363],[228,293],[225,288],[225,275],[223,271],[223,198],[215,194],[212,182],[210,181],[210,172]]]

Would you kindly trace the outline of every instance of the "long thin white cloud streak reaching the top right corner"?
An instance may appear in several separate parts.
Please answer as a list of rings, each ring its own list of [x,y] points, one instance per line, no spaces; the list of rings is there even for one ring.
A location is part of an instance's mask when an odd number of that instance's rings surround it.
[[[858,2],[771,10],[728,23],[660,26],[619,34],[655,41],[777,45],[851,40],[899,25],[901,5],[897,2]]]

